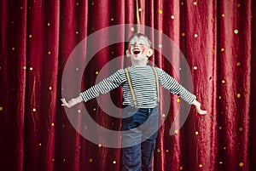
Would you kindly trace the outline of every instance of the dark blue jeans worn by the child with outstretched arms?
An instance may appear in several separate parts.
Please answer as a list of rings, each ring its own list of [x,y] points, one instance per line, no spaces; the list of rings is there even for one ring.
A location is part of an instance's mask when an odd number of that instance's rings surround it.
[[[123,171],[151,171],[158,130],[158,107],[136,109],[128,106],[122,118]]]

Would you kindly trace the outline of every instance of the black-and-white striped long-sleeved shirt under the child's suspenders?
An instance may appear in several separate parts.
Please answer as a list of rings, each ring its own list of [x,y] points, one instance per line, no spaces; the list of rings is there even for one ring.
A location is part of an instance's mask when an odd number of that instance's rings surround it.
[[[180,98],[189,104],[192,104],[195,100],[194,94],[191,94],[186,88],[183,88],[183,86],[177,83],[177,81],[167,74],[166,71],[163,71],[158,67],[155,67],[155,69],[158,73],[159,83],[163,88],[166,88],[172,94],[177,94]],[[151,66],[129,66],[128,71],[137,98],[138,107],[153,108],[157,106],[157,88],[154,71]],[[116,71],[110,77],[103,79],[100,83],[97,83],[79,95],[84,101],[88,101],[96,98],[100,94],[107,94],[109,91],[118,88],[120,85],[123,88],[123,105],[133,105],[131,90],[127,83],[124,69]]]

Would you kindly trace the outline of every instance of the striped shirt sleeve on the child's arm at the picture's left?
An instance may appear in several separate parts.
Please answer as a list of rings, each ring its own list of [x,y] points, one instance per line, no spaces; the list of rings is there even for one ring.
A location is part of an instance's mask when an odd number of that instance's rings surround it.
[[[123,69],[116,71],[110,77],[103,79],[100,83],[88,88],[84,92],[80,93],[80,97],[84,101],[91,100],[96,98],[100,94],[107,94],[109,91],[113,90],[114,88],[118,88],[125,80],[121,77]]]

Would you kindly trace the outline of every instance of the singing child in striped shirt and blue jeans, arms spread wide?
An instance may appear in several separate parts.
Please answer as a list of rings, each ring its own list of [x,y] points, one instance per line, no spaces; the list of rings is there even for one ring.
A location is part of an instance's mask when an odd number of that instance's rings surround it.
[[[159,84],[189,104],[195,105],[199,114],[207,114],[207,111],[201,110],[201,103],[195,100],[194,94],[189,93],[165,71],[147,65],[148,58],[153,53],[154,49],[148,37],[136,33],[129,39],[126,50],[132,66],[116,71],[75,99],[68,102],[61,99],[62,105],[72,107],[122,86],[123,105],[126,106],[121,121],[123,171],[152,170],[159,117]]]

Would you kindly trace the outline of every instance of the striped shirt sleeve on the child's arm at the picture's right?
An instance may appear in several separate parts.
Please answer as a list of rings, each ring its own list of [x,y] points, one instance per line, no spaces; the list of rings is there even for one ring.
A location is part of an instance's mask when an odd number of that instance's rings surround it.
[[[158,69],[160,85],[163,88],[169,90],[172,94],[177,94],[180,98],[185,100],[189,105],[193,103],[196,96],[195,94],[191,94],[186,88],[184,88],[181,84],[177,83],[177,81],[171,77],[166,71],[163,71],[160,68]]]

